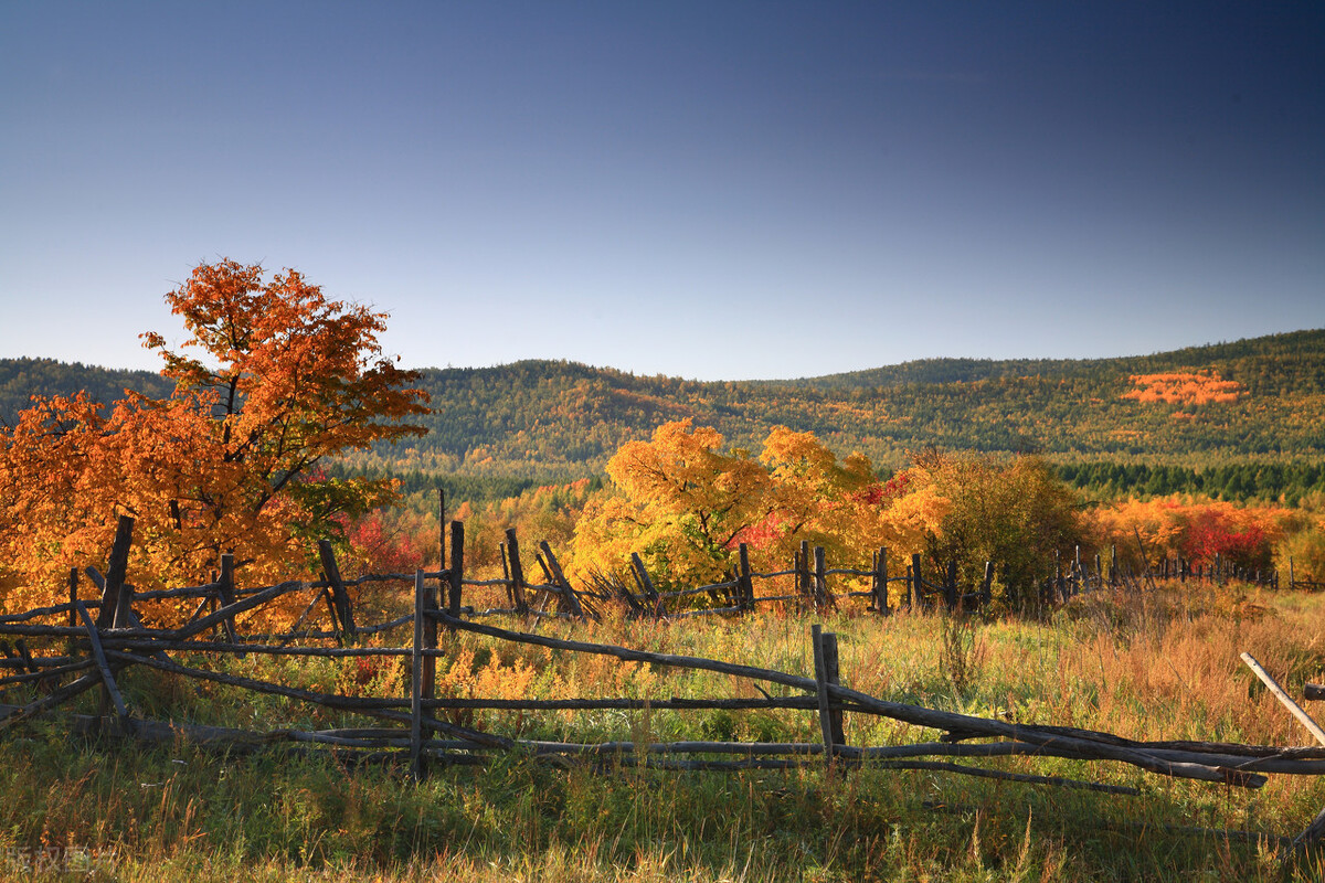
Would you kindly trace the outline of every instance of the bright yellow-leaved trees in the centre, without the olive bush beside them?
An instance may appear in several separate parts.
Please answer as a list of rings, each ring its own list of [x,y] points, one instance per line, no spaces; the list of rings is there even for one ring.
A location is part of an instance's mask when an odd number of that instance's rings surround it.
[[[681,588],[725,579],[741,543],[755,569],[782,569],[803,540],[835,561],[868,564],[889,536],[868,458],[839,462],[814,433],[784,426],[758,459],[722,445],[690,420],[623,445],[607,465],[612,488],[575,528],[575,569],[621,575],[636,552],[659,582]]]

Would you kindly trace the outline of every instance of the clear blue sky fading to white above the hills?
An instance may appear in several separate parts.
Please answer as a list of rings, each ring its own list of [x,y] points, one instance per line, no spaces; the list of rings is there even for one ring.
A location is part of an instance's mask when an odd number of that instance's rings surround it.
[[[1325,4],[0,0],[0,357],[159,367],[220,257],[409,367],[1322,327]]]

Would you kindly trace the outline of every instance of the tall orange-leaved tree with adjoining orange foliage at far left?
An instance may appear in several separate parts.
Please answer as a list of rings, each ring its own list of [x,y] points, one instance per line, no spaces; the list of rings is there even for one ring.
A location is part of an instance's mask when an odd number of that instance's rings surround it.
[[[168,398],[129,393],[34,402],[0,429],[0,604],[49,601],[69,568],[105,560],[118,515],[135,518],[130,581],[204,580],[221,552],[250,580],[307,560],[307,540],[390,500],[388,481],[329,478],[318,465],[375,441],[421,434],[417,375],[384,357],[386,315],[327,299],[288,270],[204,263],[166,299],[182,351],[143,335],[176,381]],[[193,349],[195,353],[184,352]]]

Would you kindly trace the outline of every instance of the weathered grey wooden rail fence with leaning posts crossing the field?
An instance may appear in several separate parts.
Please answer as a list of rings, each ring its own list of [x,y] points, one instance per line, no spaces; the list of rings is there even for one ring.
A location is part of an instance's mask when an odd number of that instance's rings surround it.
[[[110,731],[147,741],[172,741],[184,735],[200,744],[224,745],[227,751],[256,751],[276,743],[295,743],[301,751],[331,751],[346,764],[396,763],[415,778],[423,778],[432,765],[482,764],[498,753],[518,753],[531,761],[587,763],[604,767],[651,767],[665,769],[786,769],[807,764],[824,765],[829,770],[871,765],[886,769],[926,769],[954,774],[1014,780],[1041,785],[1084,788],[1112,794],[1136,794],[1136,789],[1092,781],[1015,773],[990,767],[959,763],[970,759],[1007,756],[1056,757],[1071,760],[1106,760],[1141,768],[1150,773],[1177,778],[1192,778],[1226,786],[1256,789],[1269,774],[1325,773],[1325,747],[1277,748],[1269,745],[1240,745],[1191,741],[1136,741],[1110,733],[1064,728],[1014,724],[1002,719],[987,719],[890,702],[851,690],[843,683],[836,635],[818,625],[810,630],[814,657],[811,675],[776,671],[734,662],[648,653],[629,647],[554,638],[525,629],[507,629],[476,621],[488,613],[514,613],[533,624],[539,616],[590,617],[595,602],[611,598],[607,592],[578,592],[570,586],[551,549],[542,544],[537,560],[549,581],[530,585],[523,580],[523,567],[514,532],[507,534],[505,549],[506,577],[497,581],[469,581],[464,579],[464,526],[449,524],[449,565],[436,572],[416,571],[412,577],[383,575],[344,580],[341,577],[329,544],[319,553],[325,579],[317,582],[288,581],[261,588],[241,588],[236,582],[233,561],[220,561],[216,580],[207,585],[160,592],[134,592],[125,582],[132,523],[121,522],[115,544],[110,553],[106,575],[89,568],[87,575],[101,590],[99,600],[85,600],[77,594],[77,579],[70,579],[70,601],[23,614],[0,617],[0,635],[15,639],[7,645],[8,659],[0,666],[17,674],[0,678],[0,688],[24,688],[26,702],[0,706],[0,729],[9,728],[37,715],[50,712],[73,698],[101,690],[101,712],[74,715],[73,725],[82,729]],[[836,597],[828,590],[827,577],[848,575],[872,580],[868,594],[876,610],[888,610],[886,586],[893,579],[909,579],[912,606],[920,606],[930,596],[942,596],[945,604],[961,606],[963,594],[983,593],[987,600],[990,568],[986,579],[973,592],[961,593],[955,580],[926,584],[916,575],[920,563],[913,560],[909,577],[889,577],[886,553],[881,553],[872,571],[829,571],[822,551],[802,549],[792,571],[780,575],[750,572],[747,556],[741,555],[735,579],[716,586],[701,586],[702,592],[727,592],[729,612],[749,609],[758,602],[774,600],[803,602],[823,609]],[[812,564],[811,564],[812,563]],[[649,577],[636,559],[640,594],[631,593],[641,614],[655,616],[668,596],[682,593],[649,592]],[[1117,571],[1121,575],[1125,571]],[[1089,585],[1089,577],[1080,561],[1071,573],[1081,580],[1079,588]],[[1098,564],[1096,575],[1100,575]],[[786,597],[757,597],[753,585],[757,577],[794,577],[798,590]],[[408,579],[412,585],[413,610],[395,620],[364,625],[355,620],[350,588],[370,581],[399,581]],[[1064,572],[1060,580],[1069,579]],[[507,593],[509,608],[474,610],[464,604],[466,586],[498,584]],[[620,586],[617,586],[620,588]],[[1059,590],[1059,584],[1053,585]],[[1081,589],[1084,590],[1084,589]],[[245,635],[240,633],[240,617],[260,610],[278,598],[307,594],[307,606],[293,627],[281,634]],[[135,602],[151,598],[197,598],[199,605],[189,620],[176,627],[148,627],[134,609]],[[546,609],[553,600],[559,612]],[[305,629],[318,605],[326,608],[330,630]],[[635,609],[632,606],[632,609]],[[94,613],[95,612],[95,616]],[[677,616],[677,614],[673,614]],[[412,639],[401,646],[354,646],[356,635],[378,634],[412,627]],[[659,700],[583,698],[583,699],[457,699],[436,695],[436,663],[447,658],[448,650],[439,642],[443,633],[469,631],[496,641],[534,645],[567,653],[606,655],[621,661],[641,662],[672,669],[714,671],[747,679],[763,694],[762,698],[672,698]],[[44,653],[33,653],[26,641],[41,643]],[[322,646],[317,642],[338,641],[341,646]],[[62,649],[62,653],[58,650]],[[53,651],[54,650],[54,651]],[[408,695],[363,696],[318,692],[288,684],[238,676],[186,665],[180,654],[215,658],[236,654],[301,655],[321,658],[396,657],[409,659]],[[284,696],[297,703],[335,710],[366,718],[363,725],[335,729],[280,729],[248,732],[217,727],[144,720],[134,715],[119,690],[119,679],[135,666],[154,669],[180,678],[228,684],[240,690]],[[758,684],[774,684],[786,695],[771,695]],[[808,743],[735,743],[735,741],[674,741],[674,743],[560,743],[514,739],[485,732],[472,725],[444,719],[445,712],[458,710],[497,710],[509,712],[549,710],[799,710],[815,715],[820,737]],[[845,739],[845,715],[881,716],[921,729],[937,731],[937,737],[906,745],[852,745]],[[1296,838],[1268,838],[1284,845],[1301,847],[1321,837],[1325,830],[1325,812],[1312,826]]]

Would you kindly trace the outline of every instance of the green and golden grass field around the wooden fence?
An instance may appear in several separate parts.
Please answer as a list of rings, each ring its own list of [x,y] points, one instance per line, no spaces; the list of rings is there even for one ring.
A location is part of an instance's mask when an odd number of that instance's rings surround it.
[[[1043,620],[841,614],[843,682],[881,698],[1137,739],[1305,744],[1239,661],[1292,695],[1325,680],[1325,597],[1252,589],[1084,596]],[[810,674],[811,620],[767,613],[700,625],[612,621],[550,631]],[[449,642],[449,643],[448,643]],[[444,635],[441,695],[758,695],[726,675]],[[407,663],[227,659],[229,671],[343,692],[404,695]],[[331,712],[132,670],[143,716],[250,729],[334,727]],[[85,711],[95,708],[89,698]],[[1308,706],[1310,711],[1310,707]],[[1321,715],[1317,715],[1321,716]],[[362,720],[362,719],[360,719]],[[464,723],[564,740],[819,739],[800,711],[474,712]],[[847,715],[851,744],[933,736]],[[4,735],[0,878],[115,880],[1318,880],[1320,855],[1178,830],[1296,835],[1325,782],[1260,790],[1052,759],[973,761],[1133,785],[1140,797],[935,772],[693,773],[555,768],[517,757],[343,769],[277,751],[236,756],[179,740],[147,748],[70,737],[58,718]],[[30,870],[25,870],[30,868]]]

